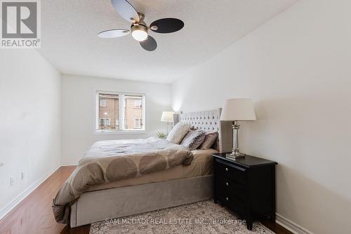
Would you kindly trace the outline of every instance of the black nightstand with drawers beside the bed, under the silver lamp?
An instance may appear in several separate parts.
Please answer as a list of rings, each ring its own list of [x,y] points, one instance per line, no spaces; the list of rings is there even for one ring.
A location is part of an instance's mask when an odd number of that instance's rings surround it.
[[[237,160],[225,158],[225,153],[212,156],[214,201],[239,214],[249,230],[254,219],[268,217],[275,222],[277,163],[253,156]]]

